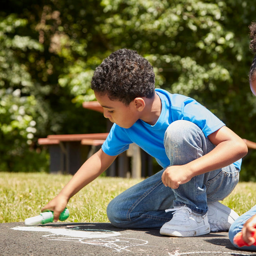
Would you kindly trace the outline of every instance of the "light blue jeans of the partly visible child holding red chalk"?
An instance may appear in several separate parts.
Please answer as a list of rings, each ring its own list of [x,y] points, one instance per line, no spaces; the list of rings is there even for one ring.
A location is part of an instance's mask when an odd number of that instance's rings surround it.
[[[256,205],[254,205],[254,207],[249,210],[248,212],[242,214],[240,217],[238,217],[233,224],[231,225],[231,227],[229,228],[228,231],[228,237],[230,242],[237,248],[241,249],[241,250],[250,250],[250,251],[256,251],[256,246],[255,245],[251,245],[251,246],[242,246],[242,247],[238,247],[236,244],[233,243],[233,239],[234,236],[236,236],[236,234],[240,231],[242,231],[243,225],[244,223],[250,219],[252,216],[254,216],[256,214]]]

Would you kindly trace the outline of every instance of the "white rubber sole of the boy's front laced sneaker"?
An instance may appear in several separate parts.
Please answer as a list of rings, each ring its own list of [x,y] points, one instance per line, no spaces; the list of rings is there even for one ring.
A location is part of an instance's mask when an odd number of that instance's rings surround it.
[[[209,234],[209,233],[210,233],[210,225],[205,225],[198,229],[189,230],[189,231],[171,230],[163,227],[160,229],[160,234],[165,236],[172,236],[172,237],[197,237],[197,236],[201,236],[203,234]]]

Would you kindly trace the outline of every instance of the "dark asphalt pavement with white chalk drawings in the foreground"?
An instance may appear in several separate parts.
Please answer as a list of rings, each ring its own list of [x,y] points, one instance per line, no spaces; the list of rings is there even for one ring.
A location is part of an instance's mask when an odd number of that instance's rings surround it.
[[[0,224],[0,256],[256,256],[229,242],[227,232],[167,237],[158,229],[119,229],[110,223]]]

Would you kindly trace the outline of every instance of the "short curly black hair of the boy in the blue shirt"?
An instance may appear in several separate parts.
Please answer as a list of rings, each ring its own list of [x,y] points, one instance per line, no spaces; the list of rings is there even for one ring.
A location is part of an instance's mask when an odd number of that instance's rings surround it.
[[[91,89],[129,105],[136,97],[152,98],[155,73],[151,64],[131,49],[119,49],[95,69]]]

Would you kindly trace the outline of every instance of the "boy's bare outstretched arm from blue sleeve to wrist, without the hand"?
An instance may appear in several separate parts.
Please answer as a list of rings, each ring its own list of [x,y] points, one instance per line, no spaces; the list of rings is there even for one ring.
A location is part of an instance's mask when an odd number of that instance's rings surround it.
[[[91,156],[74,174],[72,179],[60,191],[59,195],[69,200],[79,190],[95,180],[115,160],[116,156],[108,156],[101,149]]]

